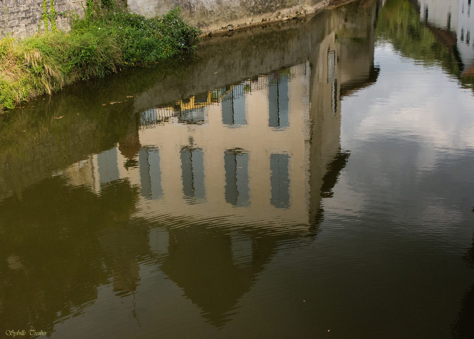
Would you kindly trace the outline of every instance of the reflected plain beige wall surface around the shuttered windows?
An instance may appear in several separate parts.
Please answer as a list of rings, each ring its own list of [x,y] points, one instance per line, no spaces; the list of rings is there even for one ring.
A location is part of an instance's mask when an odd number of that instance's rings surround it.
[[[205,124],[181,124],[177,117],[173,117],[161,126],[141,130],[141,144],[159,148],[164,196],[163,201],[146,201],[143,212],[147,213],[150,209],[165,210],[177,215],[200,215],[203,218],[234,215],[232,220],[236,223],[254,223],[257,220],[268,222],[273,218],[282,223],[307,224],[309,63],[305,63],[304,67],[307,69],[306,76],[289,80],[289,126],[283,130],[268,126],[268,88],[246,93],[247,123],[240,127],[229,127],[222,123],[222,107],[218,103],[206,106]],[[190,140],[192,146],[201,148],[204,154],[206,200],[195,205],[187,204],[182,193],[180,150],[189,145]],[[233,207],[225,200],[224,152],[232,148],[242,148],[249,154],[248,207]],[[290,155],[289,209],[277,209],[270,203],[270,155],[273,153]],[[129,171],[129,175],[137,176],[135,181],[139,181],[138,171],[134,174]]]

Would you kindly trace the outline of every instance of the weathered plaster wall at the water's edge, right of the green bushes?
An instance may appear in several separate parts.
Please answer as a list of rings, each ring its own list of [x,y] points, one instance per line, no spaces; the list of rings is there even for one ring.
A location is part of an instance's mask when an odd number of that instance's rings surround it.
[[[315,6],[328,3],[325,0],[128,0],[128,7],[146,17],[162,15],[179,6],[182,16],[191,24],[208,27],[215,23],[240,20],[250,23],[262,16],[275,13],[290,15],[297,10],[313,11]],[[287,13],[286,13],[287,12]],[[292,12],[292,13],[291,13]]]

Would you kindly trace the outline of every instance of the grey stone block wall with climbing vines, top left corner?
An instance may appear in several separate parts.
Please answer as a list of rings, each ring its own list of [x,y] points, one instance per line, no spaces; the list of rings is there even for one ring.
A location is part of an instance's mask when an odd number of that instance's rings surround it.
[[[82,3],[83,2],[83,3]],[[49,15],[50,0],[46,1],[46,11]],[[86,0],[54,0],[57,29],[68,30],[71,18],[68,14],[84,14]],[[0,0],[0,37],[7,34],[22,38],[34,34],[43,14],[43,1],[40,0]],[[48,20],[51,30],[51,22]],[[45,25],[41,21],[40,31],[44,32]]]

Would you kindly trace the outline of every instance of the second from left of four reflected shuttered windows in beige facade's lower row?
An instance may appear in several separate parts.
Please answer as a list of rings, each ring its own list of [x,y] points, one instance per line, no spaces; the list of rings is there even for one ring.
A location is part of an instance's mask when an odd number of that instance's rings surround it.
[[[204,156],[201,148],[183,147],[180,151],[182,191],[189,203],[204,199]]]

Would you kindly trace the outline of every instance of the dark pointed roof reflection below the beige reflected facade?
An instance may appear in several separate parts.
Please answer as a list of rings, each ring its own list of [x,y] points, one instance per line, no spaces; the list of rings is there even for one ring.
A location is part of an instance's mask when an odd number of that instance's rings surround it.
[[[205,319],[221,327],[232,319],[239,299],[255,284],[278,242],[289,235],[210,232],[206,230],[210,226],[212,222],[203,222],[169,230],[168,252],[160,269],[201,308]]]

